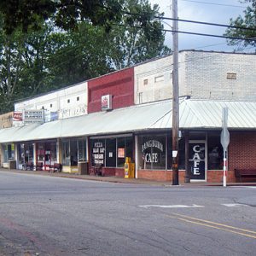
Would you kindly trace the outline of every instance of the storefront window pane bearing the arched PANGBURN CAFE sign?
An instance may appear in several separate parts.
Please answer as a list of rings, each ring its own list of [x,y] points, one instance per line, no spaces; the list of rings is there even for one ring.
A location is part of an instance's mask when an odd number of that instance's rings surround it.
[[[139,137],[139,168],[166,169],[166,136]]]

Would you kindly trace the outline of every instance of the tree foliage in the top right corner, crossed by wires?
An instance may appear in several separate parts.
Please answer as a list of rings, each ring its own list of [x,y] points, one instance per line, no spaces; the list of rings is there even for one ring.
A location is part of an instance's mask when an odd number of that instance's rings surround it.
[[[244,0],[243,3],[249,4],[244,11],[244,16],[240,15],[236,20],[230,19],[230,26],[237,26],[238,28],[229,28],[224,35],[233,38],[244,38],[244,40],[229,39],[230,45],[238,45],[242,48],[248,45],[256,47],[256,0]]]

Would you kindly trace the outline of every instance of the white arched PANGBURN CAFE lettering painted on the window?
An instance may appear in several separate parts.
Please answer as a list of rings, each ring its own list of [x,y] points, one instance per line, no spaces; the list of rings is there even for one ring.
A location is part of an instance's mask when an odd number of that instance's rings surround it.
[[[148,150],[150,149],[150,150]],[[158,163],[159,162],[159,153],[157,152],[158,149],[163,152],[164,147],[163,144],[156,140],[149,140],[142,145],[142,153],[143,158],[146,163]]]

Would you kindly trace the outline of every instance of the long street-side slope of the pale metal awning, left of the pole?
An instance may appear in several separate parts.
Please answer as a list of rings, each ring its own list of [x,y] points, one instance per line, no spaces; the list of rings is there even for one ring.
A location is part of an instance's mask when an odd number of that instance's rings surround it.
[[[90,113],[69,119],[59,119],[43,125],[2,129],[0,143],[146,131],[155,121],[170,111],[170,104],[170,101],[154,102],[108,112]]]

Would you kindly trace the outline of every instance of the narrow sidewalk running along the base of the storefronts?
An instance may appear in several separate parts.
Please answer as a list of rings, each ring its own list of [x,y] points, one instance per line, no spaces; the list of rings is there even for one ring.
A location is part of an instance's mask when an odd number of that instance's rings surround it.
[[[98,182],[109,182],[109,183],[131,183],[131,184],[147,184],[154,186],[172,186],[172,182],[165,181],[154,181],[142,178],[124,178],[124,177],[102,177],[102,176],[90,176],[90,175],[79,175],[78,173],[66,173],[66,172],[46,172],[46,171],[23,171],[15,169],[4,169],[0,168],[0,172],[13,172],[21,174],[31,175],[42,175],[51,177],[69,177],[78,178],[84,180],[98,181]],[[222,183],[180,183],[183,187],[196,187],[196,186],[222,186]],[[227,183],[227,186],[256,186],[256,183]]]

